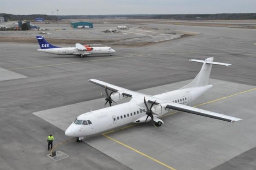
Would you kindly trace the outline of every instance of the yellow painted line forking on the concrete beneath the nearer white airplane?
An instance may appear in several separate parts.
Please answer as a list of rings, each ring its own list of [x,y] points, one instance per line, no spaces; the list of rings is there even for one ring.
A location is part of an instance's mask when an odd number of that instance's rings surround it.
[[[256,90],[256,88],[252,88],[252,89],[250,89],[250,90],[242,91],[242,92],[239,92],[239,93],[236,93],[236,94],[232,94],[232,95],[229,95],[229,96],[224,96],[224,97],[221,97],[221,98],[219,98],[219,99],[215,99],[215,100],[212,100],[212,101],[209,101],[209,102],[205,102],[205,103],[201,103],[201,104],[199,104],[199,105],[195,105],[195,106],[193,106],[193,107],[198,107],[198,106],[206,105],[206,104],[209,104],[209,103],[212,103],[212,102],[217,102],[217,101],[220,101],[220,100],[223,100],[223,99],[227,99],[227,98],[230,98],[230,97],[233,97],[233,96],[237,96],[237,95],[240,95],[240,94],[244,94],[244,93],[247,93],[247,92],[250,92],[250,91],[254,91],[254,90]],[[168,113],[168,114],[163,115],[163,116],[160,116],[160,117],[169,116],[169,115],[171,115],[171,114],[178,113],[178,112],[179,112],[179,111],[173,111],[173,112],[171,112],[171,113]],[[105,136],[106,138],[112,140],[113,142],[116,142],[116,143],[118,143],[118,144],[121,144],[122,146],[127,147],[128,149],[133,150],[134,152],[139,153],[140,155],[145,156],[146,158],[151,159],[152,161],[155,161],[155,162],[157,162],[158,164],[163,165],[164,167],[167,167],[168,169],[176,170],[175,168],[173,168],[173,167],[171,167],[171,166],[169,166],[169,165],[163,163],[162,161],[159,161],[159,160],[157,160],[157,159],[154,159],[153,157],[148,156],[147,154],[145,154],[145,153],[143,153],[143,152],[141,152],[141,151],[139,151],[139,150],[137,150],[137,149],[135,149],[135,148],[133,148],[133,147],[127,145],[127,144],[124,144],[124,143],[122,143],[122,142],[120,142],[120,141],[118,141],[118,140],[116,140],[116,139],[113,139],[113,138],[111,138],[110,136],[107,135],[107,134],[109,134],[109,133],[113,133],[113,132],[116,132],[116,131],[118,131],[118,130],[126,129],[126,128],[129,128],[129,127],[135,126],[135,125],[139,125],[139,124],[132,124],[132,125],[128,125],[128,126],[125,126],[125,127],[121,127],[121,128],[119,128],[119,129],[111,130],[111,131],[108,131],[108,132],[106,132],[106,133],[103,133],[102,135]]]

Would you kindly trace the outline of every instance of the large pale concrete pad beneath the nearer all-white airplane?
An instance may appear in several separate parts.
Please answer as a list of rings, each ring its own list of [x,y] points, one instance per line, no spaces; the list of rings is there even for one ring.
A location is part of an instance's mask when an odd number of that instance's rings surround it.
[[[138,92],[150,95],[160,94],[181,88],[190,81],[162,85]],[[209,84],[213,87],[190,105],[195,106],[229,96],[198,108],[236,116],[244,120],[230,123],[178,112],[160,118],[164,122],[161,127],[155,128],[149,122],[107,134],[119,143],[100,134],[87,137],[84,142],[134,170],[146,168],[207,170],[256,147],[256,124],[254,123],[256,122],[254,113],[256,90],[233,95],[255,87],[217,79],[210,79]],[[99,95],[100,92],[104,92],[104,89],[99,91]],[[125,99],[122,102],[127,101]],[[104,103],[105,99],[100,98],[33,114],[66,130],[77,116],[90,110],[103,108]]]

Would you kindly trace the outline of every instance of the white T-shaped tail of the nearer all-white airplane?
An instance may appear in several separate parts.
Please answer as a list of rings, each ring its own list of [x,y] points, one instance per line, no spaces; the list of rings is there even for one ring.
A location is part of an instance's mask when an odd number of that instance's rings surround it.
[[[189,61],[203,63],[203,66],[201,68],[201,71],[195,77],[195,79],[193,79],[192,82],[190,82],[188,85],[185,85],[181,89],[194,88],[194,87],[200,87],[200,86],[208,85],[212,65],[225,65],[225,66],[231,65],[231,64],[222,63],[222,62],[213,62],[213,59],[214,59],[213,57],[207,58],[205,60],[190,59]]]

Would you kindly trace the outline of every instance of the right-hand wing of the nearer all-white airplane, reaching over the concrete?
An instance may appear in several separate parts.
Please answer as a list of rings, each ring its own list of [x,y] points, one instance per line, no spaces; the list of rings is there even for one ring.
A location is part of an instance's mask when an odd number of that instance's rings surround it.
[[[149,103],[153,103],[154,101],[148,100]],[[158,102],[155,102],[156,105],[160,104]],[[210,117],[213,119],[219,119],[219,120],[224,120],[227,122],[237,122],[239,120],[239,118],[236,117],[232,117],[232,116],[227,116],[224,114],[220,114],[220,113],[215,113],[212,111],[206,111],[203,109],[199,109],[199,108],[194,108],[191,106],[187,106],[187,105],[181,105],[178,103],[173,103],[173,102],[169,102],[169,103],[164,103],[165,107],[168,109],[173,109],[176,111],[183,111],[183,112],[187,112],[187,113],[192,113],[192,114],[197,114],[200,116],[206,116],[206,117]]]

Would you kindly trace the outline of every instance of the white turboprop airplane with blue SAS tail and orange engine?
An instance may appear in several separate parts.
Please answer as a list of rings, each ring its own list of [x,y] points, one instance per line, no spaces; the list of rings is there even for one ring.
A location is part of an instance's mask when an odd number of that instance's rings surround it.
[[[116,51],[111,47],[90,47],[89,45],[76,44],[76,47],[57,47],[47,42],[43,36],[36,36],[41,49],[38,51],[58,55],[78,55],[84,57],[92,54],[110,54]]]

